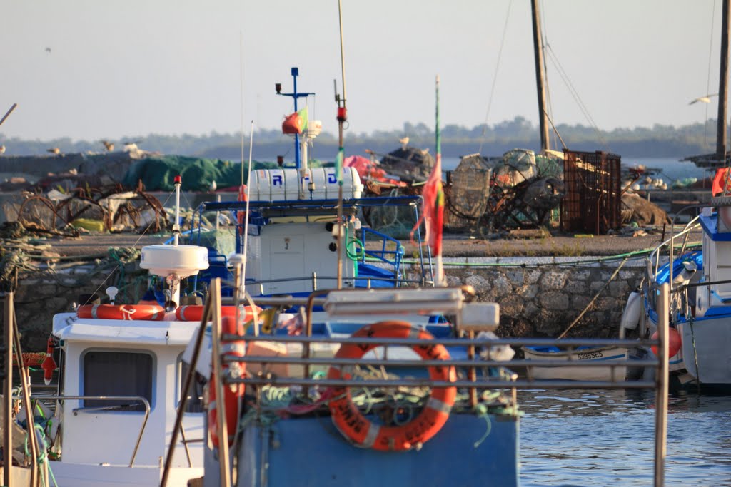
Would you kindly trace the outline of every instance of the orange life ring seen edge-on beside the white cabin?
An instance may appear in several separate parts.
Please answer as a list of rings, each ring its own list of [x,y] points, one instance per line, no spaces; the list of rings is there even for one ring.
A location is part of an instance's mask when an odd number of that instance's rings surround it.
[[[221,335],[243,334],[243,330],[237,329],[236,318],[224,316],[221,318]],[[221,340],[221,355],[230,357],[243,357],[246,353],[246,342],[243,340]],[[221,364],[221,373],[234,372],[235,376],[243,377],[246,373],[245,362],[231,362]],[[240,398],[246,390],[244,384],[230,384],[224,386],[224,407],[226,408],[226,430],[229,445],[232,444],[236,430],[238,429],[238,416],[240,413]],[[211,380],[208,381],[208,435],[214,448],[219,446],[219,423],[216,408],[216,374],[211,370]]]

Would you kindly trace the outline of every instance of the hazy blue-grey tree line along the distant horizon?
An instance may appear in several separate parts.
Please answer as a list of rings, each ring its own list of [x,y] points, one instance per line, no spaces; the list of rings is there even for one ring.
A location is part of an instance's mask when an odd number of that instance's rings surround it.
[[[556,136],[556,133],[560,135]],[[561,150],[562,143],[571,150],[604,150],[629,157],[673,157],[711,153],[715,149],[716,121],[675,127],[656,124],[652,127],[635,127],[597,130],[583,125],[561,124],[551,131],[551,146]],[[244,134],[248,155],[249,134]],[[366,150],[387,153],[400,145],[399,139],[409,137],[409,145],[419,148],[434,146],[434,129],[425,123],[404,123],[401,129],[379,130],[368,133],[346,131],[346,152],[366,155]],[[731,137],[730,137],[731,138]],[[181,156],[240,159],[240,132],[219,134],[166,135],[147,134],[107,139],[113,142],[115,150],[121,150],[125,142],[137,142],[143,150]],[[562,141],[562,142],[561,142]],[[48,149],[58,147],[62,153],[104,152],[100,140],[73,140],[69,137],[51,140],[26,140],[8,138],[0,133],[0,145],[6,147],[6,156],[44,155]],[[337,138],[334,134],[322,132],[314,141],[312,154],[322,160],[332,160],[337,152]],[[442,129],[442,153],[447,157],[482,153],[485,156],[499,156],[506,150],[521,147],[537,150],[539,134],[537,126],[523,117],[504,120],[492,126],[466,127],[447,125]],[[292,138],[281,134],[279,129],[257,129],[254,131],[254,158],[274,160],[276,156],[292,157]]]

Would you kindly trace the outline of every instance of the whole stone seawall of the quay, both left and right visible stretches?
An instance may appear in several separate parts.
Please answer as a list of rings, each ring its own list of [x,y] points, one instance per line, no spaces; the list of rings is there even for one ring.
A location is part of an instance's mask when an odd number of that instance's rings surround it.
[[[621,260],[470,257],[444,258],[444,263],[449,285],[471,285],[478,300],[500,304],[497,333],[503,337],[556,337],[592,300],[568,336],[616,337],[627,296],[645,270],[644,258],[626,261],[613,279]],[[117,264],[92,262],[21,277],[15,308],[23,349],[45,350],[53,315],[69,311],[82,294],[105,296],[105,289],[115,285],[120,288],[118,302],[139,299],[146,288],[146,271],[134,261]],[[414,269],[407,267],[407,272],[417,279]]]

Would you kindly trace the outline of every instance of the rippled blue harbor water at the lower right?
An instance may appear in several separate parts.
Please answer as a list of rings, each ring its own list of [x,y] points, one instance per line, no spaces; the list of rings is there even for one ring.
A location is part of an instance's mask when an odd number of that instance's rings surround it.
[[[654,391],[519,391],[520,486],[651,486]],[[665,486],[731,486],[731,396],[670,396]]]

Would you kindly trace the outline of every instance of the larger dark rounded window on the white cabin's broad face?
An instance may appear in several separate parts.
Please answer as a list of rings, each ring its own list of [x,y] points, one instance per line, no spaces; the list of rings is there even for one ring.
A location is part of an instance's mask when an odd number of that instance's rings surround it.
[[[91,350],[83,357],[84,396],[143,396],[152,407],[153,357],[150,353]],[[133,400],[86,399],[85,407],[144,411]]]

